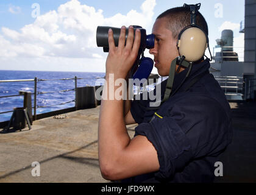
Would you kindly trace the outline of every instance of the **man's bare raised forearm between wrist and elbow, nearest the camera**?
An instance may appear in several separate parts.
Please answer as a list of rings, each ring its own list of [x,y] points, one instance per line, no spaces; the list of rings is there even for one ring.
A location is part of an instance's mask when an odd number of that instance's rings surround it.
[[[129,144],[130,137],[124,122],[123,99],[110,99],[111,90],[114,92],[119,86],[115,86],[115,79],[111,80],[106,74],[101,110],[99,116],[99,161],[100,164],[114,163],[120,152]],[[122,85],[124,88],[124,86]],[[124,91],[124,90],[123,90]],[[129,106],[129,102],[127,103]],[[107,166],[107,165],[106,165]]]

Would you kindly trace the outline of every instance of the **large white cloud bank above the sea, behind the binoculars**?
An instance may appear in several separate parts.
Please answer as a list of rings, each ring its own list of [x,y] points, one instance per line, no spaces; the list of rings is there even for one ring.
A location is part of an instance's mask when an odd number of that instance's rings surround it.
[[[102,59],[102,48],[96,46],[97,26],[121,27],[136,24],[151,27],[155,0],[145,0],[141,12],[130,10],[105,18],[103,10],[71,0],[35,19],[20,30],[2,27],[0,57],[63,57],[69,59]],[[18,13],[19,7],[11,6]]]

